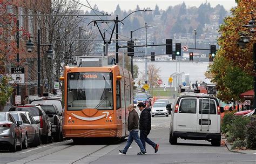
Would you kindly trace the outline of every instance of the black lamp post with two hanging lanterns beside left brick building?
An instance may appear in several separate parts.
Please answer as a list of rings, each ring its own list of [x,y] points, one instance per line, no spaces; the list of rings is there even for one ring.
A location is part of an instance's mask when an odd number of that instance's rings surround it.
[[[41,44],[40,43],[40,30],[37,30],[37,94],[40,95],[40,46],[49,46],[47,57],[49,59],[53,56],[52,44]],[[33,51],[33,43],[29,39],[29,42],[26,43],[26,49],[30,52]]]

